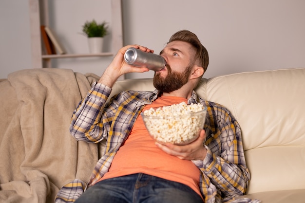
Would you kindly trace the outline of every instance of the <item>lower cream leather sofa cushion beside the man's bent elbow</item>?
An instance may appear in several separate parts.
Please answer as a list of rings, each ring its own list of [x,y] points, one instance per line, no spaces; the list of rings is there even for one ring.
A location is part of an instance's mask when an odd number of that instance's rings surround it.
[[[248,194],[305,189],[304,146],[273,146],[245,151],[251,172]]]

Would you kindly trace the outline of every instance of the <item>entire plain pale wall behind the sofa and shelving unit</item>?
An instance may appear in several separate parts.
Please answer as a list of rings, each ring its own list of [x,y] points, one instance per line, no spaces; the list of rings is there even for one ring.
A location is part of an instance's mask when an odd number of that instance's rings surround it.
[[[104,10],[109,0],[52,0],[49,4],[51,25],[70,53],[89,52],[86,38],[77,33],[85,19],[111,22]],[[188,29],[208,49],[208,78],[305,67],[304,8],[304,0],[122,0],[124,44],[141,44],[159,53],[174,32]],[[31,68],[28,15],[27,0],[0,1],[0,78]],[[100,75],[111,59],[56,59],[53,66]],[[152,75],[128,74],[126,78]]]

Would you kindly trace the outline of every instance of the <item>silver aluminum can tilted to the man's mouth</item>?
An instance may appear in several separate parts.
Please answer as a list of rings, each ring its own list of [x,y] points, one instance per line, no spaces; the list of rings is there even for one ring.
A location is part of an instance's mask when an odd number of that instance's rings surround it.
[[[166,65],[166,61],[162,56],[143,52],[133,47],[125,52],[124,59],[129,65],[147,67],[152,71],[161,71]]]

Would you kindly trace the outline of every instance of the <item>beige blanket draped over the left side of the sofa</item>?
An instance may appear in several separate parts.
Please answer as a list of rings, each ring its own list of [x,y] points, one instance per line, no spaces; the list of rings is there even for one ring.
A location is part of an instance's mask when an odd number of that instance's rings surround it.
[[[89,180],[98,146],[76,142],[69,124],[97,79],[67,69],[30,69],[0,80],[1,203],[52,203],[63,185]]]

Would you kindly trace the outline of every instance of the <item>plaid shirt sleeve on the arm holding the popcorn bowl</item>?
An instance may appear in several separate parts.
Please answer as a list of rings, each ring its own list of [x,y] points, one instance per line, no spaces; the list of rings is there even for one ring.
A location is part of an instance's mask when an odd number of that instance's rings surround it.
[[[210,111],[210,112],[209,112]],[[208,121],[207,156],[193,161],[204,177],[210,179],[223,197],[246,193],[250,173],[246,166],[241,129],[235,118],[222,106],[208,107],[213,122]],[[212,115],[212,116],[211,116]]]

